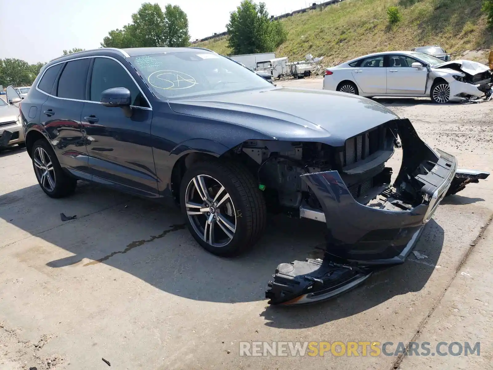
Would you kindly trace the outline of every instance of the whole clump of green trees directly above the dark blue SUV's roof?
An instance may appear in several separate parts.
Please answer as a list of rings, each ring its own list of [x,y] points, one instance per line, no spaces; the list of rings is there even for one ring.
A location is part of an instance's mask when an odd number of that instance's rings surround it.
[[[188,19],[177,5],[168,4],[165,12],[159,4],[144,2],[132,23],[112,30],[101,43],[102,47],[160,47],[189,44]]]

